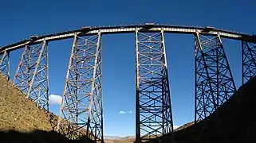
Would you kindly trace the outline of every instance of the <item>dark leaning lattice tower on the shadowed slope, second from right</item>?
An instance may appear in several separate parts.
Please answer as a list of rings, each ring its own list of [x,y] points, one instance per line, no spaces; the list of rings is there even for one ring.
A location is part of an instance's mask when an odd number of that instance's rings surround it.
[[[195,34],[195,122],[218,111],[236,91],[221,38]]]

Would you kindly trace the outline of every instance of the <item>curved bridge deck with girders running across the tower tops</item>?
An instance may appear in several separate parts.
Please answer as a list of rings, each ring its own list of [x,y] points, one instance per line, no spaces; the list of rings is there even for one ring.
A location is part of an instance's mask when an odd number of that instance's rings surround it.
[[[77,33],[80,36],[89,36],[98,33],[100,30],[101,34],[115,34],[115,33],[134,33],[136,29],[144,29],[145,25],[126,25],[126,26],[111,26],[111,27],[93,27],[89,32],[84,33],[84,29],[70,30],[61,33],[52,33],[48,35],[43,35],[37,37],[36,41],[33,41],[34,44],[40,43],[44,40],[46,41],[58,41],[61,39],[67,39],[74,37],[74,34]],[[230,32],[223,29],[212,29],[208,33],[204,33],[204,29],[202,27],[195,26],[179,26],[179,25],[153,25],[151,29],[144,29],[144,32],[155,32],[159,33],[161,30],[165,33],[187,33],[187,34],[195,34],[196,32],[201,33],[202,35],[210,35],[230,38],[239,41],[250,41],[256,43],[256,39],[254,36],[247,35],[245,33],[237,33]],[[31,39],[26,39],[24,41],[19,41],[18,43],[6,45],[0,49],[6,49],[8,51],[13,51],[17,48],[22,48],[26,44],[30,44]]]

